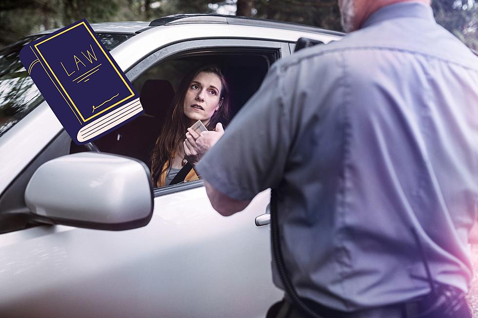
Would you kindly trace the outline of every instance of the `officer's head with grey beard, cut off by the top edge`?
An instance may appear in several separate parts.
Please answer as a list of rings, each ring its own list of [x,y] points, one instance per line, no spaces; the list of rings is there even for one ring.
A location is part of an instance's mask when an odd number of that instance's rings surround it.
[[[428,5],[431,2],[431,0],[339,0],[342,28],[347,33],[355,31],[372,13],[381,7],[411,1]]]

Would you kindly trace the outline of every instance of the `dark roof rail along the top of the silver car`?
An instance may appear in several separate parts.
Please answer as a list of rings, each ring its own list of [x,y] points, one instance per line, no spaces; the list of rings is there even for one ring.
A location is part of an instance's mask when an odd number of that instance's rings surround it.
[[[321,29],[318,27],[292,23],[292,22],[283,22],[276,20],[267,20],[267,19],[257,19],[257,18],[246,18],[240,16],[230,16],[230,15],[221,15],[221,14],[207,14],[207,13],[194,13],[194,14],[176,14],[171,16],[162,17],[149,23],[150,27],[160,26],[160,25],[177,25],[177,24],[189,24],[189,23],[219,23],[219,24],[233,24],[233,25],[250,25],[250,26],[261,26],[261,27],[272,27],[276,29],[285,29],[292,31],[303,31],[303,32],[312,32],[312,33],[322,33],[329,34],[334,36],[343,36],[342,32],[331,31],[326,29]]]

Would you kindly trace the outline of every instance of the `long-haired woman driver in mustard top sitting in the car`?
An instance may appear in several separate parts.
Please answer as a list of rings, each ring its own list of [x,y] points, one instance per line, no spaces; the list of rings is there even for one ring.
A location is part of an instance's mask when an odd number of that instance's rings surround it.
[[[194,150],[196,145],[190,143],[193,141],[191,134],[188,132],[186,135],[187,129],[195,122],[200,120],[208,131],[216,129],[223,132],[220,123],[225,124],[229,118],[229,100],[227,83],[219,68],[202,66],[184,76],[172,105],[172,114],[168,116],[171,120],[164,124],[151,156],[151,179],[156,187],[171,184],[187,163],[185,151],[190,160],[195,159],[190,164],[194,165],[199,160],[198,152]],[[192,156],[195,154],[195,157]],[[189,165],[186,166],[188,168]],[[184,172],[186,177],[180,181],[199,179],[194,168],[181,173]]]

